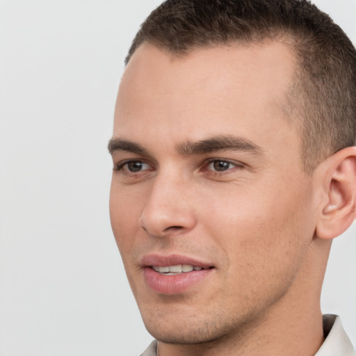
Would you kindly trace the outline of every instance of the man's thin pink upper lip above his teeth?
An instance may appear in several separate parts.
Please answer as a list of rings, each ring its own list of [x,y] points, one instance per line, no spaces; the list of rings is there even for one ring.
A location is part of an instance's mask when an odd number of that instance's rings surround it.
[[[177,266],[177,265],[190,265],[190,266],[200,266],[202,268],[211,268],[212,265],[200,261],[199,259],[195,259],[188,256],[183,256],[179,254],[169,254],[169,255],[161,255],[161,254],[146,254],[141,260],[141,265],[143,267],[149,266]]]

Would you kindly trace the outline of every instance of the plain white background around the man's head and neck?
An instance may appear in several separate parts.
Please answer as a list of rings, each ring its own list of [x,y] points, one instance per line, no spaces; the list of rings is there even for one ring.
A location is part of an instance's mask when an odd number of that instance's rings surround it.
[[[151,340],[111,233],[106,143],[124,56],[159,2],[0,1],[0,356],[138,355]],[[316,3],[355,43],[356,1]],[[354,344],[355,236],[334,242],[322,300]]]

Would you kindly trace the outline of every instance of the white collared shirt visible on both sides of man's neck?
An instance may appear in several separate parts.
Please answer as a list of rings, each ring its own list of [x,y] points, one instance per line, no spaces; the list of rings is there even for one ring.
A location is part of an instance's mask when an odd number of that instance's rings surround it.
[[[315,356],[356,356],[353,344],[341,325],[339,316],[323,316],[325,341]],[[157,341],[152,341],[147,350],[140,356],[157,356]]]

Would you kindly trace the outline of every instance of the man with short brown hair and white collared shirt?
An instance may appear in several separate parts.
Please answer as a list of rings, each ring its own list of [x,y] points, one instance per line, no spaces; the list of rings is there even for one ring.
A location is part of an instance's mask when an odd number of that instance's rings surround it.
[[[306,0],[168,0],[127,56],[111,223],[145,356],[355,355],[320,294],[355,218],[356,51]]]

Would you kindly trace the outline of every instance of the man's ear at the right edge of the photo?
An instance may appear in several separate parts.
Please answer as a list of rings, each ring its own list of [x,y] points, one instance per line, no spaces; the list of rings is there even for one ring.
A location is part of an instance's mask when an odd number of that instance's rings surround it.
[[[330,239],[345,232],[356,217],[356,147],[341,149],[322,164],[327,203],[323,203],[316,236]]]

